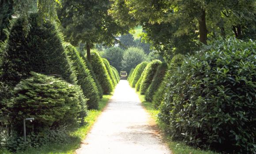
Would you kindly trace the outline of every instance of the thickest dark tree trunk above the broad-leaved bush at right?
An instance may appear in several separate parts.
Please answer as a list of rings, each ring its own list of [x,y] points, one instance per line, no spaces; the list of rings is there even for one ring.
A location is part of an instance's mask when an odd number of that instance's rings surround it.
[[[198,20],[199,23],[199,38],[200,42],[207,44],[207,27],[206,27],[206,18],[205,10],[202,9],[202,15]]]

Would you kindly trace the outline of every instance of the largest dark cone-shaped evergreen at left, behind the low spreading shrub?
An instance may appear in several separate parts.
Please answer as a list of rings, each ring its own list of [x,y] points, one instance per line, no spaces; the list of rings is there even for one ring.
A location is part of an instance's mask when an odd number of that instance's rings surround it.
[[[14,87],[20,80],[30,77],[33,71],[54,74],[75,84],[75,75],[55,25],[46,21],[39,26],[38,20],[37,14],[30,14],[27,34],[23,31],[23,18],[14,22],[3,53],[1,81]]]

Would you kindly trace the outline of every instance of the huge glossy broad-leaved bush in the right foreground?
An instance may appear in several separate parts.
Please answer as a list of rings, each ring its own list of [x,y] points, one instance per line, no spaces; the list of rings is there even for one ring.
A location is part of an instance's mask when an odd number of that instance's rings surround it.
[[[254,154],[256,42],[221,40],[171,70],[159,119],[175,140]]]

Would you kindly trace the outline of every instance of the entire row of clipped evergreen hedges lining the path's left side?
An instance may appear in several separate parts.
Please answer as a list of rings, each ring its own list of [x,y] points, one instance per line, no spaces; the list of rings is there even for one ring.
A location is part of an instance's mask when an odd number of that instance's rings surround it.
[[[0,146],[11,150],[25,146],[19,143],[24,118],[35,118],[27,135],[33,134],[30,145],[38,147],[46,143],[39,140],[45,141],[47,131],[56,130],[52,132],[58,136],[85,124],[87,108],[97,109],[103,92],[112,92],[120,80],[117,70],[107,60],[104,64],[98,53],[92,52],[88,62],[71,44],[63,44],[49,21],[40,26],[38,15],[31,14],[28,33],[23,31],[24,22],[23,18],[14,22],[0,48],[0,127],[8,132]],[[8,146],[10,140],[15,142]]]

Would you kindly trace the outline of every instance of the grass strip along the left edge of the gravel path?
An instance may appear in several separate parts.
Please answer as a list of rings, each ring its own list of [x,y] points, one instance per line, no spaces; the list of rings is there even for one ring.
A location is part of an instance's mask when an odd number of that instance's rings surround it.
[[[103,98],[99,102],[99,110],[89,110],[88,116],[85,121],[87,125],[78,128],[75,132],[71,133],[71,139],[68,143],[65,144],[50,144],[47,147],[41,148],[30,148],[23,152],[17,152],[15,154],[74,154],[75,150],[79,148],[81,141],[86,138],[87,133],[90,131],[90,128],[93,126],[94,122],[97,120],[97,117],[102,113],[102,110],[108,103],[112,95],[103,95]],[[7,150],[0,150],[0,154],[12,154]]]

